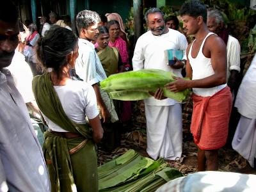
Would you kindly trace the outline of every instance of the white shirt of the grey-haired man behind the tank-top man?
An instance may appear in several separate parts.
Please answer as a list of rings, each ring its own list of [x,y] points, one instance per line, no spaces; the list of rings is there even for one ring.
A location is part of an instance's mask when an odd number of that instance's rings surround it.
[[[240,54],[241,48],[238,40],[231,35],[228,35],[227,42],[227,81],[231,70],[240,72]]]

